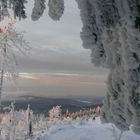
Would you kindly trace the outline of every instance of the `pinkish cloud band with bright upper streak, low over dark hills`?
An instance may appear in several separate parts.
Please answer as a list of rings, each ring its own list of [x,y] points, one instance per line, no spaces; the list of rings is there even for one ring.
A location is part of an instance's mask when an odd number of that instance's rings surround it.
[[[104,75],[81,75],[75,73],[23,73],[18,81],[18,91],[13,86],[5,89],[9,95],[32,95],[45,97],[104,96]],[[6,91],[5,91],[6,92]]]

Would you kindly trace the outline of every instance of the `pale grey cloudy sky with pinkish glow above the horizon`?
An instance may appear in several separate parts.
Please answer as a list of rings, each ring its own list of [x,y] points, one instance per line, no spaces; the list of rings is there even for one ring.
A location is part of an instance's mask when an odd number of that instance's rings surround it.
[[[47,3],[47,2],[46,2]],[[94,67],[90,50],[82,47],[82,22],[74,0],[65,1],[60,21],[48,16],[48,7],[38,21],[31,20],[33,0],[27,4],[25,20],[16,20],[31,50],[17,54],[19,79],[5,80],[4,96],[105,96],[108,71]]]

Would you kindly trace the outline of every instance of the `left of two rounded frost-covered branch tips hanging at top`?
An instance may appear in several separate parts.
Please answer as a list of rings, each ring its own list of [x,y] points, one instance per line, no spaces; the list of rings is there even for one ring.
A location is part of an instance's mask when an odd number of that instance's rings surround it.
[[[38,20],[44,13],[45,10],[45,0],[35,0],[34,8],[32,11],[32,20]]]

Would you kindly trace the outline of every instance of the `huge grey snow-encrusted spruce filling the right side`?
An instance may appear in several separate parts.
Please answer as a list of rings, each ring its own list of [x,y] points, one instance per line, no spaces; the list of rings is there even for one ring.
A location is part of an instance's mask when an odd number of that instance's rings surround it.
[[[140,134],[140,1],[76,0],[81,39],[95,65],[110,69],[102,121]]]

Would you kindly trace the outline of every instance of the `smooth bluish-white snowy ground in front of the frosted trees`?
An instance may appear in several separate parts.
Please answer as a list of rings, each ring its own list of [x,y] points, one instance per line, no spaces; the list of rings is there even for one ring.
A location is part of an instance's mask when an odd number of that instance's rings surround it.
[[[85,124],[57,124],[36,140],[119,140],[120,132],[112,124],[101,124],[100,119]],[[124,132],[121,140],[140,140],[140,136],[131,131]]]

